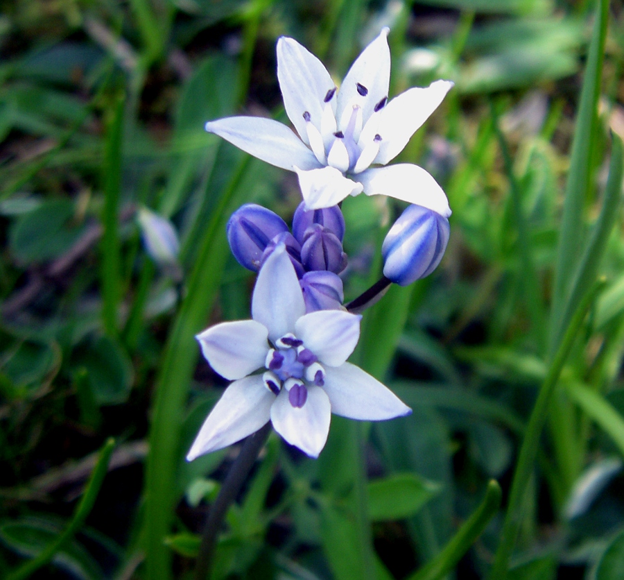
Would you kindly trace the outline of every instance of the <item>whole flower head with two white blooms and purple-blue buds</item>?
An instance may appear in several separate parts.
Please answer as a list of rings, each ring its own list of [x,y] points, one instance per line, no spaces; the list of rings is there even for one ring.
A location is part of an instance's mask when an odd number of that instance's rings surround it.
[[[340,278],[347,255],[339,204],[349,195],[381,194],[410,204],[383,242],[383,278],[373,287],[378,293],[391,282],[406,285],[429,275],[449,241],[451,210],[442,188],[417,165],[386,164],[453,83],[438,80],[389,101],[388,32],[383,28],[364,49],[340,89],[301,44],[279,39],[277,78],[298,137],[260,117],[206,123],[206,130],[243,151],[295,171],[303,201],[292,229],[255,204],[240,207],[227,223],[234,257],[258,273],[252,319],[220,323],[197,336],[209,364],[232,383],[202,425],[189,461],[269,420],[288,443],[318,457],[331,413],[357,420],[410,413],[392,391],[347,362],[361,316],[343,306]],[[360,298],[350,304],[375,296]]]

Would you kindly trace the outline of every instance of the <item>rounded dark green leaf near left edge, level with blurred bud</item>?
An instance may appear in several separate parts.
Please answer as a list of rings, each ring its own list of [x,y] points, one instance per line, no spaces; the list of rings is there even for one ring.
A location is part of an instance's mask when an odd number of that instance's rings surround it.
[[[73,223],[75,213],[69,199],[44,201],[22,214],[9,230],[9,248],[24,264],[59,257],[76,243],[84,228]]]

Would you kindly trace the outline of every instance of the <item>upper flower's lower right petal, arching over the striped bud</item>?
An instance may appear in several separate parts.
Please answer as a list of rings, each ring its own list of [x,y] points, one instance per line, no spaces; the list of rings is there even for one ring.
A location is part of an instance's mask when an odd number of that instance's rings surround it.
[[[318,170],[316,170],[318,171]],[[430,173],[410,163],[373,167],[358,174],[367,196],[389,196],[422,205],[449,217],[451,208],[442,187]]]

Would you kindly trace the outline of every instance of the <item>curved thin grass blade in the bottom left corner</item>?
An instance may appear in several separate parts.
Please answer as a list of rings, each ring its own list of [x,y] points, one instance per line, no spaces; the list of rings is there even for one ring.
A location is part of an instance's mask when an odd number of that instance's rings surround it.
[[[91,477],[87,483],[83,497],[63,533],[60,534],[60,536],[58,536],[53,543],[40,552],[36,558],[24,563],[17,568],[17,570],[8,574],[8,576],[6,576],[6,580],[25,580],[26,578],[31,577],[35,572],[37,572],[37,570],[42,568],[42,566],[49,563],[49,561],[51,561],[63,545],[69,542],[69,540],[73,538],[73,535],[76,534],[76,532],[83,526],[85,520],[87,519],[87,515],[91,513],[91,510],[96,502],[96,498],[98,497],[98,493],[100,492],[114,446],[115,441],[112,438],[107,439],[106,443],[104,443],[104,446],[100,451],[98,462],[91,472]]]

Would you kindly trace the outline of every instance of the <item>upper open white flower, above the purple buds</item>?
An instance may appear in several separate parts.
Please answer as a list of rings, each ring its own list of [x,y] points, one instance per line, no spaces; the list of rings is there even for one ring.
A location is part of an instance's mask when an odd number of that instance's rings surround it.
[[[322,62],[296,40],[277,41],[277,78],[300,139],[262,117],[227,117],[206,130],[277,167],[296,171],[308,209],[349,195],[385,195],[451,215],[447,196],[422,167],[385,165],[440,105],[453,83],[436,80],[388,101],[389,29],[383,28],[353,63],[340,91]]]

